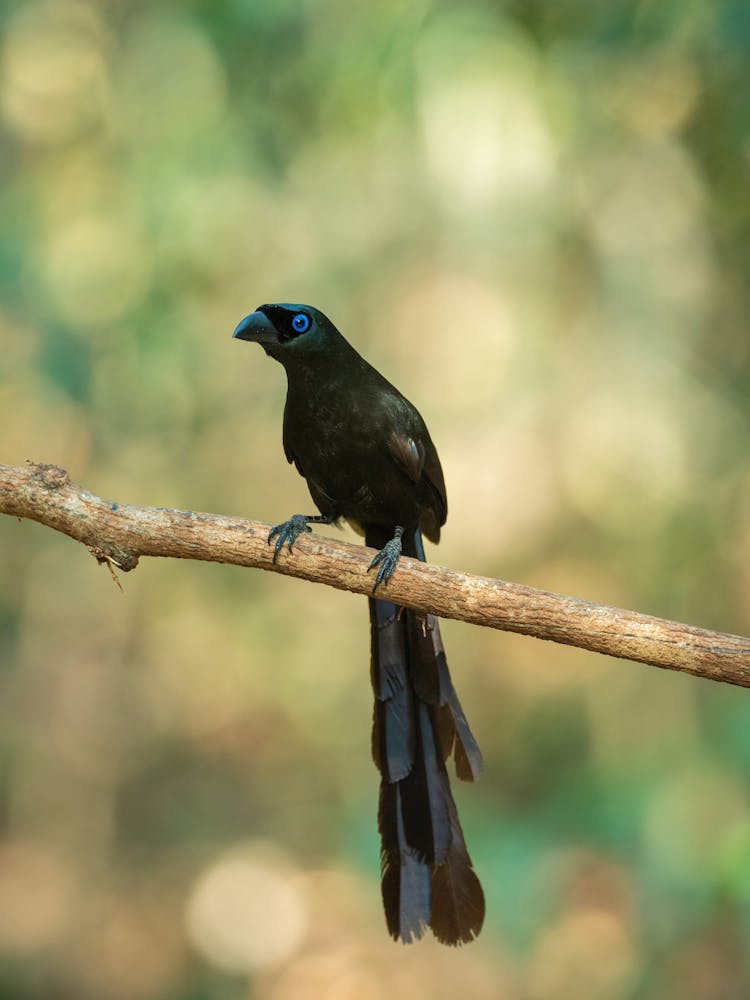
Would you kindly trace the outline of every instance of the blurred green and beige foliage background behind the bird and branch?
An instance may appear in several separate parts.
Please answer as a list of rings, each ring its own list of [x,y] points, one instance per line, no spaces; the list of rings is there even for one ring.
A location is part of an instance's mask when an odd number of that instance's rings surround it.
[[[427,419],[430,558],[747,633],[744,0],[6,0],[1,44],[0,461],[309,511],[230,335],[311,302]],[[750,995],[750,692],[446,623],[488,919],[405,948],[361,598],[0,544],[0,997]]]

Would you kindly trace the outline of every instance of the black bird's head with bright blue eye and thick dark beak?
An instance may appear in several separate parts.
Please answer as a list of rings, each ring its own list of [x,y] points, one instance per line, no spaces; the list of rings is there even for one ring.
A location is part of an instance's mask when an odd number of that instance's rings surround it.
[[[286,367],[325,351],[341,334],[319,309],[278,302],[258,306],[237,325],[232,336],[260,344],[266,354]]]

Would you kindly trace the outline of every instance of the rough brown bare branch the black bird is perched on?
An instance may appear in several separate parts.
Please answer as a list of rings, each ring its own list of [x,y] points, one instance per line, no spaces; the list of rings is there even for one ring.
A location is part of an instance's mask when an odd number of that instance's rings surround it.
[[[373,551],[305,534],[290,557],[272,562],[269,526],[218,514],[111,503],[54,465],[0,465],[0,513],[46,524],[88,546],[99,562],[125,572],[141,556],[201,559],[272,570],[369,595]],[[533,635],[655,667],[750,687],[750,638],[608,608],[502,580],[403,558],[388,583],[390,600],[440,618]]]

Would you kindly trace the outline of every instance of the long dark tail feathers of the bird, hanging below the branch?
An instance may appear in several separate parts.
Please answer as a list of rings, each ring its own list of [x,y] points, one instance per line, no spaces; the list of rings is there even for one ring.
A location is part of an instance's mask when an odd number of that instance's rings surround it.
[[[388,541],[368,531],[368,545]],[[422,536],[403,554],[424,560]],[[474,781],[482,755],[448,673],[437,618],[370,598],[375,694],[372,753],[380,770],[378,826],[388,930],[404,942],[425,928],[444,944],[479,933],[484,894],[466,850],[446,761]]]

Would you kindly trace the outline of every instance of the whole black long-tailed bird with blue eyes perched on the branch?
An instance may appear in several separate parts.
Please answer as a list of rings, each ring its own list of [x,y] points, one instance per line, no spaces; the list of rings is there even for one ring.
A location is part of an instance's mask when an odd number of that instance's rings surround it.
[[[274,560],[311,523],[345,518],[379,550],[373,593],[403,553],[424,560],[422,534],[440,538],[447,503],[440,460],[416,408],[311,306],[263,305],[234,331],[286,370],[284,451],[319,515],[271,531]],[[482,756],[448,673],[434,615],[371,597],[372,753],[388,930],[410,942],[430,927],[444,944],[471,941],[484,920],[446,760],[465,781]]]

